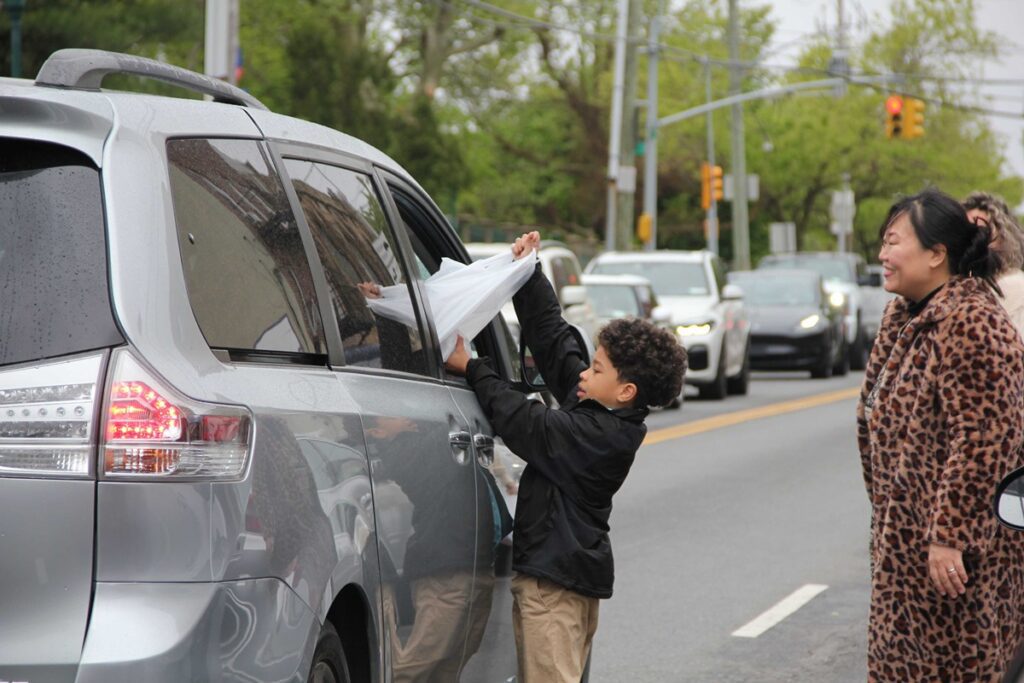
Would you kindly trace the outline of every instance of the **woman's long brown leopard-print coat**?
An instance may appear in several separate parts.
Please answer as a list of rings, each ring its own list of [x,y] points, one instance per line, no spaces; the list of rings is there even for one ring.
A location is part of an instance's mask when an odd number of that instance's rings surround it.
[[[992,499],[1021,461],[1024,346],[994,294],[953,278],[915,317],[889,304],[857,437],[871,502],[868,681],[999,681],[1024,636],[1024,537]],[[933,588],[928,546],[962,550],[967,594]]]

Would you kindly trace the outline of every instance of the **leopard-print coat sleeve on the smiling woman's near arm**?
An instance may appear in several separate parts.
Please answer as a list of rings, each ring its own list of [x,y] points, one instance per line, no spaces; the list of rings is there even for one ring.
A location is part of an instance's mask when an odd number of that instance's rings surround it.
[[[1001,310],[980,308],[955,318],[951,328],[967,332],[947,341],[957,348],[945,353],[937,378],[949,455],[928,540],[966,553],[983,553],[997,525],[992,513],[996,485],[1019,466],[1024,348]]]

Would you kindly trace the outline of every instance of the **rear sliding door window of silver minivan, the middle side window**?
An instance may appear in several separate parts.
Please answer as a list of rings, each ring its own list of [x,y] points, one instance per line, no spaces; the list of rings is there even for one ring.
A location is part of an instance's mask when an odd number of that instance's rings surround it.
[[[300,159],[286,159],[285,167],[324,265],[345,365],[427,375],[419,326],[377,315],[367,304],[375,296],[368,285],[404,285],[414,301],[371,177]]]

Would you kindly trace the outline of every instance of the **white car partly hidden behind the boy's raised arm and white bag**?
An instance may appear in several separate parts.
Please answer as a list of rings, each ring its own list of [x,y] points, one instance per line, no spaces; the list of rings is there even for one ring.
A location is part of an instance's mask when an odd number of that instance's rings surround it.
[[[500,254],[509,247],[510,245],[507,244],[471,242],[466,245],[466,250],[470,257],[477,261]],[[596,343],[600,325],[594,310],[594,304],[580,280],[583,271],[580,268],[580,260],[577,255],[560,242],[544,240],[541,242],[540,259],[541,270],[555,288],[558,301],[562,304],[565,319],[582,329],[592,344]],[[512,330],[512,334],[516,339],[519,339],[519,319],[516,317],[515,307],[511,301],[502,308],[502,315]]]

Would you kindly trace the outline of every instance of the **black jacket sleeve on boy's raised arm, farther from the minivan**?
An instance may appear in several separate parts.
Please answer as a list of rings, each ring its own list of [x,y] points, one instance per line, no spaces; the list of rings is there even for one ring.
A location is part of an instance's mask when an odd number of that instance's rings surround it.
[[[570,392],[589,364],[569,324],[562,317],[558,297],[541,271],[540,263],[512,301],[523,340],[534,353],[544,383],[558,402],[565,403],[572,398]]]

